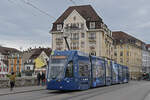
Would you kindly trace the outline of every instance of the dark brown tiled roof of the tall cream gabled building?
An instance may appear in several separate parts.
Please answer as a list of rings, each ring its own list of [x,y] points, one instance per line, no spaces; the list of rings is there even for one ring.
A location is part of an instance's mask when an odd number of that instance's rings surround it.
[[[98,16],[91,5],[71,6],[54,23],[52,31],[57,31],[57,24],[64,24],[65,19],[76,10],[85,20],[88,28],[89,22],[96,22],[96,29],[101,28],[102,19]]]

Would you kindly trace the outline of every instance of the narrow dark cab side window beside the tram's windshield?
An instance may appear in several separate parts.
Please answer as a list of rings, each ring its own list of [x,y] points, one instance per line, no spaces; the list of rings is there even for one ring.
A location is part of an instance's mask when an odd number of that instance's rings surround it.
[[[68,63],[68,66],[66,68],[66,74],[65,74],[65,77],[73,77],[73,62],[70,61]]]

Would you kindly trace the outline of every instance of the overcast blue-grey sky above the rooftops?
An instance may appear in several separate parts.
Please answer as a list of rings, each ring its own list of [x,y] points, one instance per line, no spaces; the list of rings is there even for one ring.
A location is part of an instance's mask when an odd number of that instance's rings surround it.
[[[150,0],[74,1],[76,5],[92,5],[112,31],[124,31],[150,43]],[[0,45],[22,47],[22,50],[51,47],[52,23],[75,3],[70,0],[0,0]]]

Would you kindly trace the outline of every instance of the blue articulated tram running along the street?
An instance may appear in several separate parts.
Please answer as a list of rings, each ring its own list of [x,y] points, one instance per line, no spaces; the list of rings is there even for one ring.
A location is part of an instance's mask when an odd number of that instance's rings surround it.
[[[47,70],[48,90],[86,90],[128,82],[128,67],[80,51],[54,51]]]

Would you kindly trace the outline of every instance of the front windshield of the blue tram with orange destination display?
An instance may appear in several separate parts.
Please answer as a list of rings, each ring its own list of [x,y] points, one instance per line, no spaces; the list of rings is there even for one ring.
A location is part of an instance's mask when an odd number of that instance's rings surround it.
[[[65,64],[67,58],[65,56],[53,56],[50,59],[49,78],[62,79],[65,74]]]

